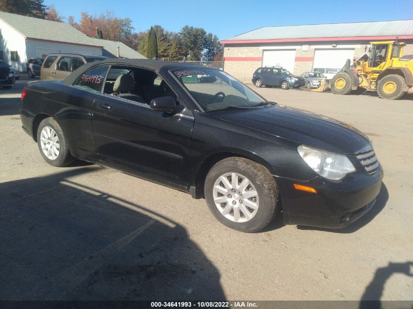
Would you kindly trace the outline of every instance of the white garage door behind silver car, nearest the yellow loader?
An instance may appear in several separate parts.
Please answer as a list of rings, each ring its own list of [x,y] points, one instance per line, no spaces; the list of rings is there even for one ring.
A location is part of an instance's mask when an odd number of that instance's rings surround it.
[[[353,60],[354,49],[316,49],[314,53],[313,71],[321,72],[328,78],[341,70],[346,60]]]

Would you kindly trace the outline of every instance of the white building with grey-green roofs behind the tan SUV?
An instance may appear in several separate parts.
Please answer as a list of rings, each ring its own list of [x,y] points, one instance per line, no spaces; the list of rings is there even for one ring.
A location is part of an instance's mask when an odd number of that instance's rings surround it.
[[[26,70],[30,58],[50,53],[77,53],[117,57],[145,58],[121,42],[97,40],[67,23],[0,12],[0,60],[15,69]]]

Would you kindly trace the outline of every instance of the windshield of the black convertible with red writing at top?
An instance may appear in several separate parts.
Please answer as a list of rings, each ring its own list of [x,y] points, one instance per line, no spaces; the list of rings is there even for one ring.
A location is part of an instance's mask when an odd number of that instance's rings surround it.
[[[173,70],[205,111],[230,107],[250,108],[265,101],[231,75],[212,68]]]

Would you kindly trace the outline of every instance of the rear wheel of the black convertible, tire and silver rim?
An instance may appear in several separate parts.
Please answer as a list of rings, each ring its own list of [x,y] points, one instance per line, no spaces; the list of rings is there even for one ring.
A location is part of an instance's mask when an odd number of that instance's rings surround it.
[[[59,167],[66,166],[75,160],[70,154],[62,128],[56,120],[51,117],[43,119],[39,124],[39,128],[37,129],[37,144],[44,161],[50,165]]]

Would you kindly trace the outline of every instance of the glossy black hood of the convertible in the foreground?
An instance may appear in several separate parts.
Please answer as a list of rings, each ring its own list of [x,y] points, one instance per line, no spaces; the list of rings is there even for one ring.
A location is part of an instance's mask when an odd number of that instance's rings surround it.
[[[368,137],[349,124],[283,105],[221,110],[214,115],[232,124],[335,153],[356,154],[370,145]]]

